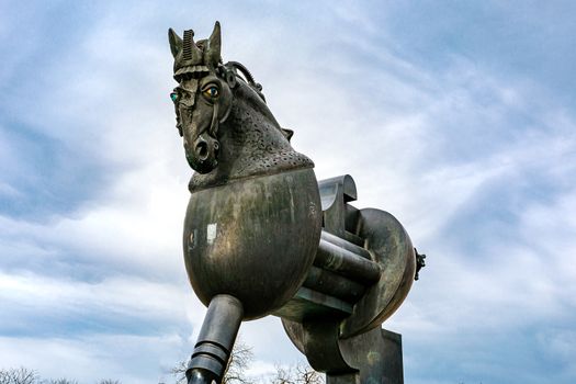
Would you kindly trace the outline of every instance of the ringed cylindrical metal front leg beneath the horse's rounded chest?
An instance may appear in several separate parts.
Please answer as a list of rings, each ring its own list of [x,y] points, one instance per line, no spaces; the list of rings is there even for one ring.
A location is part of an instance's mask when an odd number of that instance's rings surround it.
[[[212,298],[188,365],[189,384],[221,382],[242,317],[242,304],[236,297],[216,295]]]

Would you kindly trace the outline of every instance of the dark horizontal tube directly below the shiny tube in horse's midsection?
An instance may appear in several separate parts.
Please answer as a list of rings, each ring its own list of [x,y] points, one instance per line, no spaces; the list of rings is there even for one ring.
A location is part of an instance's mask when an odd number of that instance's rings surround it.
[[[303,286],[350,304],[358,302],[365,291],[365,286],[355,281],[314,266],[308,271]]]

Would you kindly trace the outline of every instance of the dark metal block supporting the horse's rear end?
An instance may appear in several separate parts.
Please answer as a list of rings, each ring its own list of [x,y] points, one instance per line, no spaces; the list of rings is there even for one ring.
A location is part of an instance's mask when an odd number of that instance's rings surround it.
[[[326,374],[327,384],[404,384],[402,335],[376,328],[340,340],[345,359],[359,371]]]

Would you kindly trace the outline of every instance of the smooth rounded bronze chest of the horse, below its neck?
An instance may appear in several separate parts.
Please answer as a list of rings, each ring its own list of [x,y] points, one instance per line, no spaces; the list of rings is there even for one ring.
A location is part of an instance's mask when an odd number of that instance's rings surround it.
[[[224,293],[242,303],[246,319],[266,316],[301,286],[320,226],[309,168],[194,192],[183,235],[190,282],[205,305]]]

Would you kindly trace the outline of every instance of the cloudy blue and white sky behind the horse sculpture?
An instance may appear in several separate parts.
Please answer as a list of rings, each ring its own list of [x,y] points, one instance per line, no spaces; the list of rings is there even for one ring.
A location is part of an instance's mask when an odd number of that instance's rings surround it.
[[[576,5],[212,3],[0,2],[0,369],[155,383],[192,351],[167,30],[219,20],[318,179],[428,255],[384,324],[406,382],[574,383]],[[278,318],[241,338],[255,374],[302,360]]]

